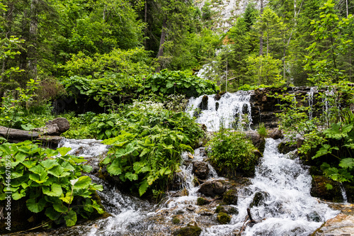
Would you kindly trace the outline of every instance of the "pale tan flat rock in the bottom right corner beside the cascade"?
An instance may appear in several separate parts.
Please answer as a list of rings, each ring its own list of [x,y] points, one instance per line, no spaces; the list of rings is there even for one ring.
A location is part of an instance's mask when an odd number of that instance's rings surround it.
[[[327,220],[324,225],[319,227],[312,236],[345,236],[353,235],[354,232],[354,216],[339,214],[331,220]]]

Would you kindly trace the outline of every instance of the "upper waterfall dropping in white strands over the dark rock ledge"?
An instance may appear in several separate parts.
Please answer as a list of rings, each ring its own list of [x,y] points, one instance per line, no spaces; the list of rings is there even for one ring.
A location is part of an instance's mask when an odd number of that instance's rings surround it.
[[[251,129],[250,99],[252,92],[226,93],[218,101],[215,100],[215,95],[191,98],[186,112],[190,116],[197,116],[197,122],[205,124],[208,131],[218,131],[220,128]]]

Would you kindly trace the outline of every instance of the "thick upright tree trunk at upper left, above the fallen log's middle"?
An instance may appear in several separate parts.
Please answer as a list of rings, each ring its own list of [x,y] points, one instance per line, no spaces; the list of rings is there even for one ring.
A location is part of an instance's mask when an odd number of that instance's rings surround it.
[[[28,46],[28,70],[31,79],[37,80],[37,30],[38,30],[38,0],[30,4],[30,45]]]

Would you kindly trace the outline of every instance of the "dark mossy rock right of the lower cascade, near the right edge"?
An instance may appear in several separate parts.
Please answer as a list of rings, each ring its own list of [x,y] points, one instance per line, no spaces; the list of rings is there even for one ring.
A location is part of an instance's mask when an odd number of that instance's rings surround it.
[[[334,202],[343,201],[341,186],[326,176],[313,176],[311,196]]]

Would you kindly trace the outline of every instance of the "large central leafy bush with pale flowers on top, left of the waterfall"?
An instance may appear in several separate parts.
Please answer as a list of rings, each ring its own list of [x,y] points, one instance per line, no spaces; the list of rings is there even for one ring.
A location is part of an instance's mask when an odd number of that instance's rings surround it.
[[[131,190],[140,196],[149,187],[166,190],[179,169],[181,153],[193,152],[192,146],[204,135],[185,113],[155,108],[154,103],[135,103],[120,113],[115,123],[119,135],[103,141],[112,146],[102,162],[108,164],[108,173],[131,182]]]

